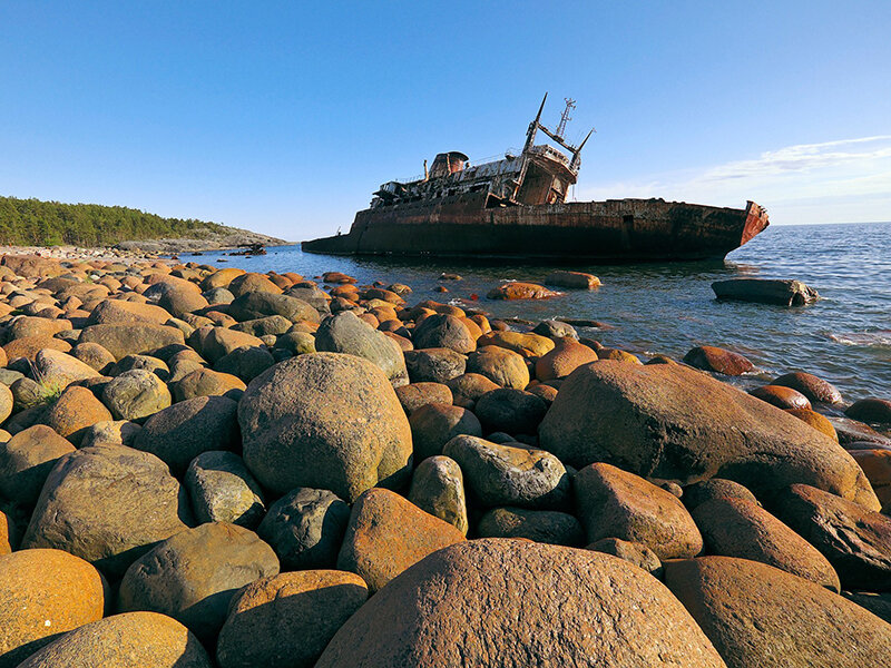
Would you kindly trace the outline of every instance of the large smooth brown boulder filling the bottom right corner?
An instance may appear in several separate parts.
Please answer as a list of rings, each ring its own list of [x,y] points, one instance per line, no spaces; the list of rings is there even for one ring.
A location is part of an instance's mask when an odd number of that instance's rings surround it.
[[[861,668],[891,652],[891,626],[765,563],[731,557],[667,562],[665,583],[728,668]]]

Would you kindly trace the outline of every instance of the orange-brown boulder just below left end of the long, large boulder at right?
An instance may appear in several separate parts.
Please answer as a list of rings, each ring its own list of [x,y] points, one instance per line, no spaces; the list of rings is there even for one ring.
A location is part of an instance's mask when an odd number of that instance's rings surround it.
[[[640,542],[659,559],[695,557],[703,537],[674,494],[616,466],[595,463],[574,480],[576,514],[588,542],[620,538]]]

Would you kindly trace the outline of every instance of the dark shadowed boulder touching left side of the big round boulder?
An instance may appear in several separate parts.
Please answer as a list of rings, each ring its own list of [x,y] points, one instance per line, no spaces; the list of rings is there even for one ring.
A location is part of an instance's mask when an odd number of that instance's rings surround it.
[[[237,411],[238,404],[225,396],[182,401],[151,415],[134,448],[150,452],[180,474],[202,452],[237,448]]]

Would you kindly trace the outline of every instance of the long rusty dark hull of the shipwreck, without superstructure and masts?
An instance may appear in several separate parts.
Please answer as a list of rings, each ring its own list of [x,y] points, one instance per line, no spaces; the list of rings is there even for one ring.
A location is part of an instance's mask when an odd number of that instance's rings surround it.
[[[482,208],[443,198],[359,212],[349,234],[304,242],[310,253],[528,257],[600,262],[721,259],[767,227],[764,209],[610,199]]]

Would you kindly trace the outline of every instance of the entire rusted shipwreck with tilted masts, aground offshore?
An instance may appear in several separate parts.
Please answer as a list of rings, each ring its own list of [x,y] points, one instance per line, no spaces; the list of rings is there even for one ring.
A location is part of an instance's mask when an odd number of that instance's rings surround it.
[[[551,130],[541,124],[547,94],[521,150],[470,165],[439,154],[424,174],[392,180],[355,215],[349,234],[303,243],[310,253],[540,261],[634,262],[719,259],[767,227],[748,202],[724,208],[664,199],[567,202],[581,149],[564,135],[575,101]],[[545,144],[536,144],[539,132]]]

